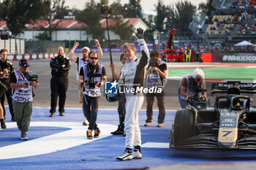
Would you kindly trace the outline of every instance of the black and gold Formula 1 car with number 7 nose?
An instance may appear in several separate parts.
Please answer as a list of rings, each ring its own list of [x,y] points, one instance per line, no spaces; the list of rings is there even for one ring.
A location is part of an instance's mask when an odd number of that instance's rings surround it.
[[[214,106],[178,109],[170,148],[255,150],[256,108],[241,93],[256,93],[256,83],[216,82],[211,89]]]

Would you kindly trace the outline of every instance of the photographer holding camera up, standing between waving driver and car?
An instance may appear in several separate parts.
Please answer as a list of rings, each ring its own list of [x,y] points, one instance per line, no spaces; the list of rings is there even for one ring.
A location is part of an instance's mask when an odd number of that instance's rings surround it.
[[[148,70],[146,72],[146,87],[147,88],[162,88],[162,93],[146,93],[147,101],[147,119],[145,126],[152,126],[153,119],[153,103],[154,97],[157,98],[157,106],[159,109],[158,125],[157,127],[163,127],[165,121],[165,91],[164,87],[167,82],[167,65],[164,61],[159,60],[159,53],[152,51],[150,53],[151,60],[149,61]]]

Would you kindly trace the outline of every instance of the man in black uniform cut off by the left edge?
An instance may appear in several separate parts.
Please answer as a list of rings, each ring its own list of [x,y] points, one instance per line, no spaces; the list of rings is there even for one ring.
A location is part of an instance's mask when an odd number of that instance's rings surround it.
[[[0,50],[0,68],[1,70],[7,69],[7,74],[5,74],[5,77],[3,79],[0,79],[1,82],[4,83],[4,85],[7,86],[8,90],[5,92],[5,95],[7,96],[7,101],[9,105],[10,114],[12,115],[12,121],[15,121],[15,114],[13,112],[12,108],[12,88],[10,88],[10,74],[12,71],[14,71],[14,66],[12,62],[7,61],[7,49],[1,49]],[[4,95],[1,96],[1,106],[4,110],[4,119],[5,119],[5,109],[4,109]]]

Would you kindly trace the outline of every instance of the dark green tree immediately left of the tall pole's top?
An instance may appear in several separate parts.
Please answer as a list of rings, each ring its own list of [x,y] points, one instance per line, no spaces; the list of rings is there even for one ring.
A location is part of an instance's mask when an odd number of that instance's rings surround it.
[[[108,1],[101,1],[96,3],[94,0],[91,0],[86,3],[85,9],[82,11],[76,11],[75,17],[81,23],[86,23],[86,26],[83,28],[86,30],[86,33],[91,35],[93,39],[103,39],[104,29],[101,27],[99,20],[102,19],[100,15],[100,7],[102,4],[108,4]]]

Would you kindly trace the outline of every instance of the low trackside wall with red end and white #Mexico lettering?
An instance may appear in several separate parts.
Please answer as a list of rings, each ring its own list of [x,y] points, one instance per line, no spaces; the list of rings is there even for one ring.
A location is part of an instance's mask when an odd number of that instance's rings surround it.
[[[203,63],[256,63],[256,53],[202,53]]]

